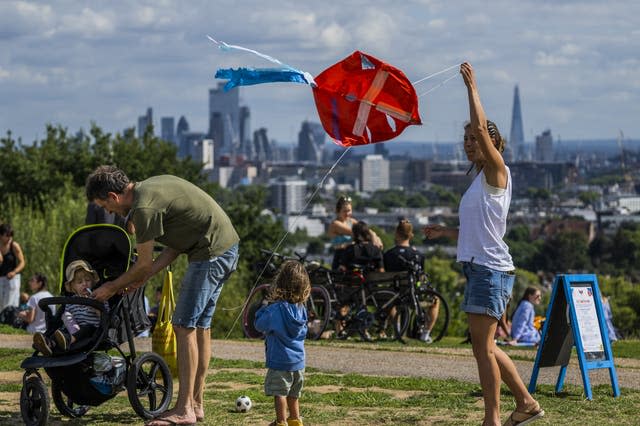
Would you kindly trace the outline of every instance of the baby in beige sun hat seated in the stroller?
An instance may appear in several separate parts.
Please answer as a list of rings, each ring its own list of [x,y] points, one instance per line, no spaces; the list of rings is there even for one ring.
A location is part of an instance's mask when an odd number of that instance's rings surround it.
[[[91,289],[100,278],[91,265],[84,260],[74,260],[65,270],[65,289],[73,297],[89,297]],[[109,305],[105,303],[105,309]],[[47,338],[44,333],[33,335],[33,348],[45,356],[53,352],[65,352],[78,340],[94,335],[100,327],[100,312],[87,305],[69,304],[62,314],[64,327],[53,333],[53,338]]]

